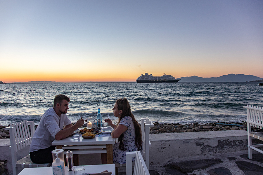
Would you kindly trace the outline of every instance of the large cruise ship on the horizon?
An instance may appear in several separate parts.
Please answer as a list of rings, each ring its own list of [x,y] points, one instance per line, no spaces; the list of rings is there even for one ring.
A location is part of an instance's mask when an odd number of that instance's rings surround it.
[[[175,79],[173,76],[171,75],[165,75],[165,73],[163,73],[164,75],[157,77],[157,76],[153,76],[152,74],[147,74],[145,73],[145,75],[141,74],[141,76],[139,76],[136,79],[137,83],[176,83],[178,82],[180,79]]]

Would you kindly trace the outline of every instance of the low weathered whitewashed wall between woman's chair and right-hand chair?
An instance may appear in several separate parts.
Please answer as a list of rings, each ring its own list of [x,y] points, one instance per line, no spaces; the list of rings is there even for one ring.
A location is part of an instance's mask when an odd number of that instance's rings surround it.
[[[245,130],[150,134],[150,164],[248,150]]]

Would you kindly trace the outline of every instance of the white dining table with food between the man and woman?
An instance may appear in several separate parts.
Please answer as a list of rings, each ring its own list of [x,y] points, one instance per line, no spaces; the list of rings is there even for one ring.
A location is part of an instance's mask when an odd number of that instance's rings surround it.
[[[79,128],[81,129],[81,128]],[[107,153],[108,164],[113,164],[113,144],[116,142],[110,134],[101,133],[93,139],[79,139],[67,137],[62,140],[54,140],[52,145],[57,149],[72,150],[73,154],[94,154],[94,153]],[[105,149],[103,149],[105,148]]]

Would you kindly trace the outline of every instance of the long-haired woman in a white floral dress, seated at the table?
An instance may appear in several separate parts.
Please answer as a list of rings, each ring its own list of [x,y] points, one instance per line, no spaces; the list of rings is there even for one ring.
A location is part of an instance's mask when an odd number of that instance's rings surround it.
[[[131,106],[126,98],[118,99],[114,105],[113,114],[118,117],[117,125],[110,119],[104,120],[113,127],[112,138],[118,138],[118,143],[113,146],[113,162],[126,163],[126,154],[131,151],[142,152],[141,128],[131,113]],[[101,154],[102,164],[107,163],[106,154]]]

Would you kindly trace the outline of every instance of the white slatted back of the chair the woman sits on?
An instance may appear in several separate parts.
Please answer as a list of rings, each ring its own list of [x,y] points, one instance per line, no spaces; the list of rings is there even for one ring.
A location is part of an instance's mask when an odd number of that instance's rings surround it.
[[[144,124],[145,123],[145,124]],[[149,147],[151,145],[149,140],[150,127],[154,126],[153,122],[148,118],[141,119],[141,134],[143,140],[143,159],[146,162],[146,166],[149,169]]]

